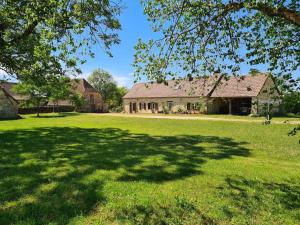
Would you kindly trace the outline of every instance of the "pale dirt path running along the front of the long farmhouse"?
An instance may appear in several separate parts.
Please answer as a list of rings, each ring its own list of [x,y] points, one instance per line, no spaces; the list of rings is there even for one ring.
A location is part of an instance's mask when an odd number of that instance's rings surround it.
[[[99,114],[98,114],[99,115]],[[125,114],[125,113],[107,113],[101,116],[116,117],[133,117],[133,118],[150,118],[150,119],[171,119],[171,120],[210,120],[210,121],[229,121],[229,122],[245,122],[245,123],[262,123],[262,119],[235,119],[235,118],[218,118],[209,116],[169,116],[169,115],[143,115],[143,114]],[[300,124],[300,121],[272,121],[273,124]]]

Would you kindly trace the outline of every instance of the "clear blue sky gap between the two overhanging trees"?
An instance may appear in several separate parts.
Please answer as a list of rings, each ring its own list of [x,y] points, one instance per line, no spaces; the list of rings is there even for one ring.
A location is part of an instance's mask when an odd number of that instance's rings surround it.
[[[122,30],[119,32],[121,44],[112,47],[113,58],[107,56],[99,46],[94,47],[95,58],[87,59],[81,66],[82,76],[87,77],[94,69],[102,68],[110,72],[119,85],[131,87],[133,84],[133,68],[131,66],[134,55],[134,45],[138,38],[147,40],[153,37],[149,23],[139,0],[124,1],[120,21]]]

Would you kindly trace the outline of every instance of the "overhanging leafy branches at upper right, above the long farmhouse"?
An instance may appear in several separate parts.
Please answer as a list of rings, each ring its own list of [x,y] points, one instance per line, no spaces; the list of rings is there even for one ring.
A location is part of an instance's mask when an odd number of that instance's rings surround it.
[[[135,78],[163,82],[182,74],[237,75],[242,63],[267,64],[290,80],[300,66],[299,0],[142,0],[161,38],[135,49]]]

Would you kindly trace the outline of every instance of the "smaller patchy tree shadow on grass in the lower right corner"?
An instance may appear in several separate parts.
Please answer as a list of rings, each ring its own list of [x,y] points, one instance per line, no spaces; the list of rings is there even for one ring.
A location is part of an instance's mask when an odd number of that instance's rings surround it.
[[[274,221],[288,213],[293,215],[296,221],[300,220],[298,181],[287,180],[277,183],[236,176],[226,178],[225,182],[226,185],[219,189],[221,195],[227,196],[232,202],[230,207],[223,209],[229,218],[236,218],[240,215],[247,215],[248,218],[271,216],[272,218],[267,219]]]

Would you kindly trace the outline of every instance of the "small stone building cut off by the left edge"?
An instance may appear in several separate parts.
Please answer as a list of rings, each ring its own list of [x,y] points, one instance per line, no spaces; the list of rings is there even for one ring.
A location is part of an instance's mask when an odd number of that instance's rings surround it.
[[[0,86],[0,119],[15,118],[18,118],[18,103]]]

